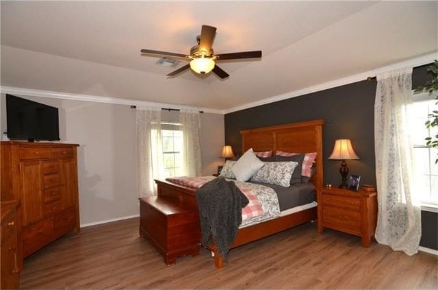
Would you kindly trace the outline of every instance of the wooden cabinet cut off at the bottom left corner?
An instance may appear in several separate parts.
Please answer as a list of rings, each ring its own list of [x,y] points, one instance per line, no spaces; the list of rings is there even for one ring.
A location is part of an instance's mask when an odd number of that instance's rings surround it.
[[[1,202],[1,289],[18,289],[16,202]]]

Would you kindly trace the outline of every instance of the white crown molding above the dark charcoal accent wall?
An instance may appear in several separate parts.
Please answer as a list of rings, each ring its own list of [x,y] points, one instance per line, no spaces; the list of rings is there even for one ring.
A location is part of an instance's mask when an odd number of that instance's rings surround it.
[[[245,110],[248,108],[253,108],[261,105],[266,105],[270,103],[274,103],[276,101],[282,101],[283,99],[290,99],[293,97],[299,97],[302,95],[307,95],[309,93],[315,93],[319,92],[320,90],[327,90],[329,88],[335,88],[337,86],[344,86],[346,84],[352,84],[354,82],[360,82],[363,80],[366,80],[368,77],[375,77],[379,73],[383,73],[385,71],[391,71],[392,69],[398,69],[400,67],[420,67],[424,64],[429,64],[430,62],[433,62],[434,60],[438,59],[438,51],[435,51],[434,53],[430,53],[424,56],[420,56],[417,58],[412,58],[410,60],[405,60],[403,62],[398,62],[396,64],[391,64],[386,67],[381,67],[378,69],[374,69],[371,71],[365,71],[363,73],[358,73],[356,75],[350,75],[348,77],[343,77],[338,80],[334,80],[331,82],[325,82],[323,84],[317,84],[315,86],[309,86],[307,88],[302,88],[300,90],[293,90],[292,92],[284,93],[281,95],[276,95],[274,97],[269,97],[267,99],[261,99],[259,101],[253,101],[248,104],[235,106],[233,108],[229,108],[227,110],[224,110],[224,114],[229,114],[231,112],[237,112],[240,110]]]

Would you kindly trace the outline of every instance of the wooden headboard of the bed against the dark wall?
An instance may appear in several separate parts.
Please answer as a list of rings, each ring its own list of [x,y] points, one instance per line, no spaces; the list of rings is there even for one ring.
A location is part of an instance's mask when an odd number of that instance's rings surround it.
[[[316,173],[311,182],[322,189],[322,125],[324,120],[305,121],[285,125],[242,130],[242,153],[253,148],[255,152],[276,150],[284,152],[317,152]]]

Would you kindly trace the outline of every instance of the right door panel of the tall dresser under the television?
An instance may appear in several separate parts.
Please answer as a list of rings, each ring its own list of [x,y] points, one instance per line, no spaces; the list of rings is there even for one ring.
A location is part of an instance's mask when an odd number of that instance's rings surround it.
[[[61,178],[63,186],[62,206],[68,208],[77,203],[77,168],[74,159],[61,159]]]

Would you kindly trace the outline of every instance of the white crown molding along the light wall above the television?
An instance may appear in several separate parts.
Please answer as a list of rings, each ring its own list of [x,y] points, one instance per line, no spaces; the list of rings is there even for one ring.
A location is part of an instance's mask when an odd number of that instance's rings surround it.
[[[105,104],[117,104],[126,106],[137,106],[142,107],[157,107],[157,108],[175,108],[175,109],[196,109],[199,111],[213,113],[213,114],[224,114],[223,110],[216,110],[211,108],[198,108],[190,106],[179,106],[175,104],[166,103],[155,103],[151,101],[136,101],[132,99],[119,99],[114,97],[102,97],[95,95],[81,95],[72,93],[60,93],[51,90],[36,90],[33,88],[16,88],[13,86],[0,86],[0,93],[11,94],[11,95],[22,95],[29,97],[48,97],[53,99],[68,99],[73,101],[92,101],[94,103],[105,103]]]

